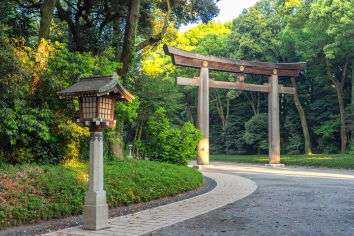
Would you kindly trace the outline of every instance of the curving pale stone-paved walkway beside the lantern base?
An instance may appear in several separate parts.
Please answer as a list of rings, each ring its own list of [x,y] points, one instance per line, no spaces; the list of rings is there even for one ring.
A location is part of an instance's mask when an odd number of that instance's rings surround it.
[[[257,184],[244,177],[222,173],[203,173],[218,181],[218,186],[206,194],[177,203],[110,219],[110,226],[99,231],[69,228],[46,236],[139,236],[162,227],[184,221],[240,200],[257,189]]]

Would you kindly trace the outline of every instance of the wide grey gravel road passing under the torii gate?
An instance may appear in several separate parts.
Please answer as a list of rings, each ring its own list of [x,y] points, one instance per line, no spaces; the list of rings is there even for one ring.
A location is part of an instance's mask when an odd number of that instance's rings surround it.
[[[354,172],[210,163],[258,184],[250,196],[145,236],[354,236]]]

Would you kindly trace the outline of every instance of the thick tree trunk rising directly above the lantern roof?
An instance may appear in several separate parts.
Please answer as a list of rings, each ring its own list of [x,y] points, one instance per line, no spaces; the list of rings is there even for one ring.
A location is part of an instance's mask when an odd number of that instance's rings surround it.
[[[135,33],[140,18],[139,13],[140,0],[130,0],[128,4],[128,15],[126,17],[126,25],[124,32],[123,49],[120,56],[120,62],[123,63],[122,67],[118,69],[118,75],[125,75],[130,66],[135,53]]]

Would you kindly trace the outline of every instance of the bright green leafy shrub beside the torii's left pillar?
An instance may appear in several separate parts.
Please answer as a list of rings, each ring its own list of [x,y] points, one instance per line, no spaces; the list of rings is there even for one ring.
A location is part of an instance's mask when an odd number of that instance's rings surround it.
[[[141,150],[150,160],[186,165],[197,155],[195,149],[203,134],[189,122],[182,129],[172,128],[165,113],[160,108],[149,118],[149,136]]]

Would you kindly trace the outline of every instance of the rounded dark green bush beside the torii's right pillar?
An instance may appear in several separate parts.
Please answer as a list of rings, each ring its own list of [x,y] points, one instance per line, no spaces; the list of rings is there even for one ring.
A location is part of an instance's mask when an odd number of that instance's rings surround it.
[[[245,123],[243,139],[257,148],[268,149],[268,114],[254,115]]]

